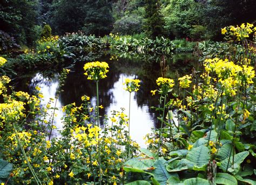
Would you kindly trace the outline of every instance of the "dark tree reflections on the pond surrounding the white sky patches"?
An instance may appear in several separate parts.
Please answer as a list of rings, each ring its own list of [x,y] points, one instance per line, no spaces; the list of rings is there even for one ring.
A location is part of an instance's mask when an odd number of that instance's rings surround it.
[[[93,58],[88,61],[95,60],[96,59]],[[140,90],[134,95],[134,98],[137,99],[137,104],[140,108],[144,108],[144,106],[149,107],[149,114],[154,120],[154,123],[156,123],[155,126],[158,127],[159,120],[157,120],[157,116],[159,116],[159,112],[150,107],[159,105],[159,96],[152,96],[150,91],[158,88],[156,79],[161,76],[160,60],[161,56],[159,55],[153,56],[145,54],[123,54],[123,58],[119,58],[119,60],[109,60],[109,56],[99,58],[98,61],[106,61],[110,66],[106,79],[99,81],[99,105],[108,108],[114,101],[114,92],[109,89],[114,87],[114,83],[119,80],[121,74],[136,75],[142,83]],[[173,79],[176,77],[176,70],[180,76],[189,74],[194,64],[194,59],[191,55],[187,54],[175,54],[172,57],[165,58],[165,60],[169,65],[169,72],[167,72],[166,76]],[[79,105],[82,103],[80,97],[83,95],[90,96],[91,100],[96,99],[96,83],[87,80],[87,77],[84,75],[84,63],[85,62],[77,62],[72,67],[71,72],[65,81],[65,85],[62,88],[64,91],[60,93],[59,96],[60,102],[63,105],[73,102],[76,102],[76,104]],[[60,71],[61,69],[51,69],[45,72],[40,72],[43,78],[39,79],[33,79],[33,76],[38,72],[19,77],[19,79],[14,81],[14,86],[16,87],[15,90],[23,90],[31,93],[39,83],[48,83],[48,85],[50,85],[52,81],[58,80]],[[33,83],[31,83],[32,79]],[[93,102],[93,105],[95,104],[96,103]],[[99,109],[99,111],[100,116],[104,116],[107,109]],[[100,122],[103,123],[102,120]]]

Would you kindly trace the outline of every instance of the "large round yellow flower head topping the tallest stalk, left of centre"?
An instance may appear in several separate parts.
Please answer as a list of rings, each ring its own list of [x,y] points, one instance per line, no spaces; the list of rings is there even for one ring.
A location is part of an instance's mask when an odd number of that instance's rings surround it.
[[[85,75],[88,76],[88,80],[99,80],[106,77],[106,73],[109,65],[106,62],[88,62],[84,65]]]

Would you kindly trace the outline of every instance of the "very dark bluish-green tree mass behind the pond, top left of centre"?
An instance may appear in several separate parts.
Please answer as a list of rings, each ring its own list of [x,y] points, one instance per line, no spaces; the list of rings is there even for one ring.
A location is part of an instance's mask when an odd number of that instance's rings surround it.
[[[54,0],[51,27],[58,34],[84,30],[103,35],[112,29],[111,3],[107,0]]]

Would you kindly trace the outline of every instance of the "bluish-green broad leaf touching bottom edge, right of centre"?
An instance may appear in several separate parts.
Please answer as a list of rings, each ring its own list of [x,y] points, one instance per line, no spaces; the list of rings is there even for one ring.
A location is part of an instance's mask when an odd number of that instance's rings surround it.
[[[157,180],[160,184],[166,184],[169,177],[177,176],[176,173],[171,174],[167,172],[162,160],[157,160],[154,162],[154,167],[156,167],[156,169],[153,170],[152,174],[154,175],[154,179]]]

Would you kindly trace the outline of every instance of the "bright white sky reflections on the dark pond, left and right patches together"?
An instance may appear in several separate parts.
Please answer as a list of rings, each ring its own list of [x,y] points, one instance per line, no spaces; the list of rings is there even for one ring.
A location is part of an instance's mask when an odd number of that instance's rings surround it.
[[[110,103],[109,106],[107,106],[106,112],[107,116],[111,116],[111,110],[120,111],[120,108],[125,108],[126,115],[129,115],[129,92],[124,90],[124,79],[130,78],[134,79],[136,76],[127,76],[125,74],[120,74],[119,80],[114,83],[113,88],[109,89],[107,93],[113,93],[113,101]],[[58,78],[55,77],[51,81],[48,79],[44,79],[41,74],[36,74],[35,77],[31,80],[31,84],[36,83],[38,87],[41,88],[41,93],[43,94],[44,98],[41,101],[42,106],[46,106],[46,104],[49,102],[50,98],[53,98],[54,101],[51,104],[51,107],[55,106],[55,95],[57,88],[59,86]],[[100,88],[100,87],[99,87]],[[100,97],[99,97],[100,98]],[[91,97],[91,103],[93,106],[96,105],[96,97]],[[64,113],[62,112],[62,102],[61,99],[58,98],[56,102],[56,108],[58,110],[55,110],[55,113],[57,114],[57,117],[55,117],[53,124],[57,127],[58,130],[62,129],[62,118],[64,116]],[[52,110],[49,111],[49,117],[47,117],[47,120],[52,119]],[[134,93],[131,94],[131,119],[130,119],[130,136],[132,140],[137,141],[137,143],[141,147],[145,147],[145,141],[143,140],[143,137],[151,132],[151,127],[153,127],[153,119],[151,119],[150,113],[149,113],[149,106],[143,105],[138,106],[136,95]],[[53,130],[51,137],[59,137],[60,134],[57,130]]]

